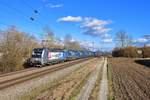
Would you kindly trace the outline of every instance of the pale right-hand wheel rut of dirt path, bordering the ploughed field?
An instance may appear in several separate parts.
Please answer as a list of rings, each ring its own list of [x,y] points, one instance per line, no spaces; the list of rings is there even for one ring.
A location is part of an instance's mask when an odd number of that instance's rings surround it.
[[[107,100],[107,95],[108,95],[107,58],[105,58],[98,100]]]

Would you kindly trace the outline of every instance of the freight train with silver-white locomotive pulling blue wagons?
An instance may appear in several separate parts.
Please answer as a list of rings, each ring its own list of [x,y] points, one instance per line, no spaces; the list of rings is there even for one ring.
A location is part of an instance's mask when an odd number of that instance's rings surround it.
[[[93,56],[95,53],[92,51],[34,48],[29,65],[44,66]]]

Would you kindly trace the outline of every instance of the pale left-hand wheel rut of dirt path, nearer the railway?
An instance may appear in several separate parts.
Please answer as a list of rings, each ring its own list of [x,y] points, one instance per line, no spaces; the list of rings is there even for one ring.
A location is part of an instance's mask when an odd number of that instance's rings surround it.
[[[90,75],[89,79],[87,80],[86,84],[81,89],[81,91],[80,91],[80,93],[77,97],[77,100],[88,100],[89,99],[90,94],[92,92],[92,89],[95,86],[97,77],[100,73],[101,67],[103,66],[103,62],[104,62],[104,59],[100,63],[95,65],[96,69],[91,73],[91,75]]]

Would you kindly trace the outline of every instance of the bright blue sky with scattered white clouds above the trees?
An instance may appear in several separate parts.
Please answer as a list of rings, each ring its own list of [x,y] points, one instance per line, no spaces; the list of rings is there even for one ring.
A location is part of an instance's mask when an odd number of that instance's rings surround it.
[[[47,25],[61,39],[71,34],[84,45],[111,50],[120,30],[139,44],[148,41],[149,5],[150,0],[0,0],[0,29],[14,25],[41,40]]]

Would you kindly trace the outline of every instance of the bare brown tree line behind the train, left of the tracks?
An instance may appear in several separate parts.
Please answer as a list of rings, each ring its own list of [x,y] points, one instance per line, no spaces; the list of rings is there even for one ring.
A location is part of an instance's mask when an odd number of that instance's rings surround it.
[[[42,43],[14,26],[0,30],[0,73],[24,69],[24,62],[31,56],[33,48],[82,49],[79,42],[71,41],[71,35],[66,35],[64,44],[61,44],[57,43],[59,39],[49,27],[43,30],[45,36]]]

